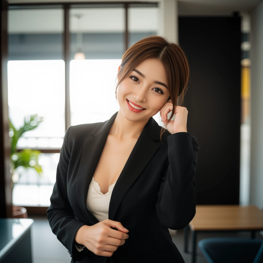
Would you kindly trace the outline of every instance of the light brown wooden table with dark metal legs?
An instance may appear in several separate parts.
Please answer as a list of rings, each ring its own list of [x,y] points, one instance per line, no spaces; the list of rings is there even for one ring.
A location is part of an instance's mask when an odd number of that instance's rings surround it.
[[[191,263],[196,262],[196,237],[200,232],[255,232],[263,230],[263,211],[257,206],[196,205],[193,220],[184,229],[184,252],[188,252],[188,227],[191,230]]]

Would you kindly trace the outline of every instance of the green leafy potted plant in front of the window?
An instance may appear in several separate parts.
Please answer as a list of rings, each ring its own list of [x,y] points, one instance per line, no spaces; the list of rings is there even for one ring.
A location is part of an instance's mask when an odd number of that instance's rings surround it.
[[[10,176],[11,176],[11,192],[13,192],[14,185],[19,181],[21,173],[16,173],[19,166],[27,169],[35,169],[38,175],[42,178],[42,168],[38,164],[38,155],[41,153],[39,150],[23,149],[18,152],[16,145],[21,135],[29,130],[35,129],[43,117],[37,117],[37,114],[31,115],[30,120],[24,118],[24,126],[16,130],[9,118],[9,137],[11,139],[11,154],[10,154]],[[14,218],[28,218],[26,208],[22,206],[13,206]]]

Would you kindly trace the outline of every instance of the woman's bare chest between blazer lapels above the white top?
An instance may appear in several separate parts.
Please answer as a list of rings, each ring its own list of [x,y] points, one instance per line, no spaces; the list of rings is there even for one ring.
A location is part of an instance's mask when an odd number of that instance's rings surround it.
[[[99,184],[103,194],[106,194],[110,185],[118,180],[136,141],[120,142],[108,136],[93,175],[94,181]]]

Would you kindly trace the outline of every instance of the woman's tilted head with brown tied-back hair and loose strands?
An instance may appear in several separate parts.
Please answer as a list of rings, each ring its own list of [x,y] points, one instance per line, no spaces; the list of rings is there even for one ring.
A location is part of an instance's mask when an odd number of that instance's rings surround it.
[[[178,101],[179,105],[183,102],[189,72],[186,55],[179,45],[159,36],[141,39],[123,54],[118,69],[115,97],[122,115],[133,122],[147,122],[171,100],[173,110],[168,125]],[[140,114],[131,115],[130,111]],[[162,127],[160,140],[164,131]]]

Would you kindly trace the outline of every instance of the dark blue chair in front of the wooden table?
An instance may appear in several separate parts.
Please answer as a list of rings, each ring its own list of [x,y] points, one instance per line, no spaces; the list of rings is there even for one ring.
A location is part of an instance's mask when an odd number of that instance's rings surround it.
[[[209,263],[263,263],[263,240],[236,237],[201,239],[198,247]]]

